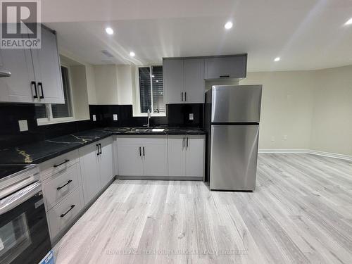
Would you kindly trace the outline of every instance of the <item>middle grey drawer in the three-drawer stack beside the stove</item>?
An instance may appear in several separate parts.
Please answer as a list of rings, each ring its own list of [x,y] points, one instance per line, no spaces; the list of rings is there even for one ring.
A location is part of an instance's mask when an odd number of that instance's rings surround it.
[[[56,203],[62,201],[79,185],[79,165],[79,163],[76,163],[43,182],[46,210],[50,210]]]

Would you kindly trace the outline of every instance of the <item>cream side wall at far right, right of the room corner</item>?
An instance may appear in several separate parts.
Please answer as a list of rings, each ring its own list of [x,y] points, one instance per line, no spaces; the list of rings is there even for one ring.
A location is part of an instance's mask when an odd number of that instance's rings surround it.
[[[310,149],[352,156],[352,65],[318,70]]]

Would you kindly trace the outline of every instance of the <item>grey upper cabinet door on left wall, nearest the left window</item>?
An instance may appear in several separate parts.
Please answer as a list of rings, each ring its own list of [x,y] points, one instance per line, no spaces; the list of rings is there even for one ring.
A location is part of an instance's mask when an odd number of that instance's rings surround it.
[[[42,48],[32,49],[41,103],[65,103],[56,34],[42,27]]]

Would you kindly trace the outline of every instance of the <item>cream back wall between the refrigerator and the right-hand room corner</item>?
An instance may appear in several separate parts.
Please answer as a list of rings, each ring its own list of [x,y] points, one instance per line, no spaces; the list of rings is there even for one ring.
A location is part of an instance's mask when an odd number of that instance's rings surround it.
[[[312,72],[248,73],[240,84],[263,84],[259,149],[309,148],[313,113]]]

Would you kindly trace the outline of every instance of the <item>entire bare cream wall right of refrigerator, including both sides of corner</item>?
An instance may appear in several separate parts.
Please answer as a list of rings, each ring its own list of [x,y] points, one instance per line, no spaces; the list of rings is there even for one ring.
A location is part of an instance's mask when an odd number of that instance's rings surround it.
[[[263,84],[259,149],[352,156],[352,65],[248,73],[240,84]]]

